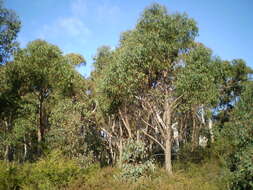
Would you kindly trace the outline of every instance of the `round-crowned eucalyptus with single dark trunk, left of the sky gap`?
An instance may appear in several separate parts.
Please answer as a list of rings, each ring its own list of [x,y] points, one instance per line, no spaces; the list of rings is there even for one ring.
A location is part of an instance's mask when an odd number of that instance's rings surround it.
[[[25,102],[25,106],[30,106],[28,116],[32,116],[23,117],[17,128],[33,126],[37,131],[37,143],[33,142],[33,145],[38,146],[39,152],[50,129],[49,115],[54,102],[73,94],[77,60],[84,62],[78,55],[64,56],[57,46],[36,40],[19,50],[13,63],[7,65],[7,85]]]

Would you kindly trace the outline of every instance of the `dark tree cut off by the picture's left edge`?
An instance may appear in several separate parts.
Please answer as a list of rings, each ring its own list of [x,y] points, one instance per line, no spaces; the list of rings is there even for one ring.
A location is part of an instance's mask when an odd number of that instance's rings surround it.
[[[17,101],[15,95],[10,95],[5,79],[5,63],[8,61],[14,50],[18,47],[15,41],[20,30],[20,20],[16,13],[12,10],[4,8],[4,3],[0,0],[0,126],[1,129],[8,128],[10,118],[13,117],[9,113],[16,110],[17,106],[13,106]],[[8,92],[7,92],[8,91]],[[3,133],[1,133],[3,134]],[[2,137],[2,135],[0,135]],[[1,138],[0,137],[0,138]],[[1,139],[1,141],[3,141]],[[4,150],[5,148],[1,148]],[[7,149],[6,149],[7,150]],[[1,152],[1,151],[0,151]],[[5,157],[10,155],[9,151],[5,151]],[[9,156],[9,158],[12,156]]]

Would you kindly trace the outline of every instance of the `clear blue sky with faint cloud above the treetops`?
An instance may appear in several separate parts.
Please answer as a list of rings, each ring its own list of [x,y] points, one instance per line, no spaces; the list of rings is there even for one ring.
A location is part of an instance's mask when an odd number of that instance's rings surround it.
[[[194,18],[197,40],[214,55],[242,58],[253,67],[253,0],[5,0],[5,6],[22,21],[21,47],[40,38],[64,53],[80,53],[87,66],[79,71],[88,76],[97,48],[117,46],[121,32],[132,29],[143,9],[154,2],[170,13],[186,12]]]

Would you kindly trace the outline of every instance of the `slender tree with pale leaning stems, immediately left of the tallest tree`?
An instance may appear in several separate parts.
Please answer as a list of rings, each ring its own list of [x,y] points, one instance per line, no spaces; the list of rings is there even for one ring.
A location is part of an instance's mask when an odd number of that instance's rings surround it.
[[[117,113],[117,107],[113,106],[114,101],[104,93],[104,77],[106,70],[112,64],[115,52],[110,47],[102,46],[97,50],[94,57],[95,70],[91,74],[92,89],[94,100],[96,102],[96,121],[103,133],[107,143],[109,160],[108,163],[121,166],[123,151],[123,128]],[[116,103],[116,102],[115,102]]]

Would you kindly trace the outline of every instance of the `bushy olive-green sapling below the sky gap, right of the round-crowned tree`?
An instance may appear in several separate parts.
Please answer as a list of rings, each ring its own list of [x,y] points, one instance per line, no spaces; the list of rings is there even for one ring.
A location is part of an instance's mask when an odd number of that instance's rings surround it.
[[[52,109],[51,129],[46,136],[49,150],[60,149],[64,155],[84,166],[102,161],[105,150],[89,106],[88,101],[59,101]]]

